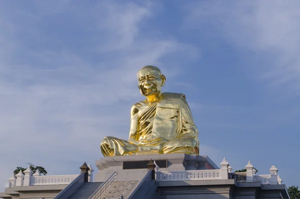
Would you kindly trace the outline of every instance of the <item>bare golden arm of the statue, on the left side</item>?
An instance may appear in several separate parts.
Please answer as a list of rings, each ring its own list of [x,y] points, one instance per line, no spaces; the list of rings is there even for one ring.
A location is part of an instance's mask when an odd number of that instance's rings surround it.
[[[129,139],[128,141],[138,144],[138,133],[137,133],[137,115],[139,109],[136,104],[131,107],[130,110],[130,130],[129,130]]]

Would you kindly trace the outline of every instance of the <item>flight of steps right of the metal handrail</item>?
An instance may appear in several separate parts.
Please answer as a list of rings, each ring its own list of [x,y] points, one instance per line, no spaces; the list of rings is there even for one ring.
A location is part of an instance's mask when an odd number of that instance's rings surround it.
[[[135,188],[139,181],[113,181],[110,183],[110,187],[107,187],[104,192],[101,193],[99,199],[127,199],[131,191]]]

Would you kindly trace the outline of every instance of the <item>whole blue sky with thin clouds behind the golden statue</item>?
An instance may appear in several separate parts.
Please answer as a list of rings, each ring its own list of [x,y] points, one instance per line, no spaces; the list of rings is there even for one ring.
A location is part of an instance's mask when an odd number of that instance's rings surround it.
[[[201,155],[300,185],[299,20],[297,0],[0,1],[0,191],[26,162],[97,170],[144,65],[186,95]]]

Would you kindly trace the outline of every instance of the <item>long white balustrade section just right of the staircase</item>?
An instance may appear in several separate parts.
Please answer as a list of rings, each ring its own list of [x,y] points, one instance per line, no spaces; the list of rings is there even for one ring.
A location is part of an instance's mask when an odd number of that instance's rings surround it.
[[[228,175],[226,173],[226,175]],[[157,171],[157,181],[221,179],[221,169]]]

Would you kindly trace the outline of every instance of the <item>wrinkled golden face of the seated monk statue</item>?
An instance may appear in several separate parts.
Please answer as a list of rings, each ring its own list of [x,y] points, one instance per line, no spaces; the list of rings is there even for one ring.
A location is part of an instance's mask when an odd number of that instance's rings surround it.
[[[165,77],[152,68],[139,70],[137,79],[140,93],[146,97],[160,93],[165,81]]]

